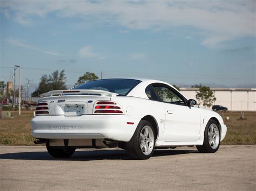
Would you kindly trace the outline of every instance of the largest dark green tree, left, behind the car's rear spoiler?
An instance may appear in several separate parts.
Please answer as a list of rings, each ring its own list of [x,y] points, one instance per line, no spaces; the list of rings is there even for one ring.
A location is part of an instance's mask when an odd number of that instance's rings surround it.
[[[51,90],[60,90],[66,89],[66,77],[64,70],[60,73],[58,70],[47,76],[46,74],[42,75],[38,88],[31,94],[32,96],[36,97],[40,94]]]

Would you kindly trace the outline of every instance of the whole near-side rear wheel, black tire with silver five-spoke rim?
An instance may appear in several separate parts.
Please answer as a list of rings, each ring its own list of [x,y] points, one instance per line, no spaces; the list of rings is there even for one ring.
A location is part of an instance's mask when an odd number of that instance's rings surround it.
[[[154,151],[155,134],[151,123],[140,121],[131,140],[126,144],[126,152],[132,159],[149,159]]]

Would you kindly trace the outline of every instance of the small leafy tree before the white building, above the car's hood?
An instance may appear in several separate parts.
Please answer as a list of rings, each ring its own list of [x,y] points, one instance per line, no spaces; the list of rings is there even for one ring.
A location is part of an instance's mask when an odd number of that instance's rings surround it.
[[[199,88],[199,91],[197,92],[196,98],[201,104],[203,102],[204,108],[211,107],[212,103],[216,101],[216,97],[213,94],[213,91],[210,89],[210,87],[202,86]]]

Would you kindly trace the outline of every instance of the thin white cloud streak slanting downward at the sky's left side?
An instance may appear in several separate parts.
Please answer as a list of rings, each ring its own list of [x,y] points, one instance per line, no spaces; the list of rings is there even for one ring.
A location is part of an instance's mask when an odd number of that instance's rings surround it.
[[[60,56],[59,53],[56,52],[51,52],[51,51],[43,51],[42,49],[39,49],[35,46],[31,46],[29,44],[26,44],[26,42],[24,40],[18,40],[18,39],[14,39],[14,38],[8,38],[6,39],[6,41],[8,43],[10,43],[11,45],[17,46],[17,47],[22,47],[22,48],[27,48],[27,49],[31,49],[33,51],[37,51],[37,52],[41,52],[44,54],[49,54],[49,55],[55,55],[55,56]]]

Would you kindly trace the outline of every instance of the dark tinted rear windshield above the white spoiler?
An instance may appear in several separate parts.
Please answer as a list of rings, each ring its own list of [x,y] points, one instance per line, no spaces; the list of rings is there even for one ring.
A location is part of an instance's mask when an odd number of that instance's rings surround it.
[[[104,90],[126,96],[140,82],[142,81],[132,79],[104,79],[86,82],[72,89]]]

